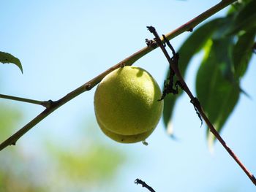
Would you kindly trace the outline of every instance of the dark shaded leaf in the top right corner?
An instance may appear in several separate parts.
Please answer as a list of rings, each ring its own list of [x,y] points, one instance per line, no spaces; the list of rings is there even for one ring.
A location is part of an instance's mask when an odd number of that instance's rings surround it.
[[[237,12],[236,17],[231,23],[227,34],[237,34],[239,31],[249,31],[256,26],[256,1],[249,1]]]

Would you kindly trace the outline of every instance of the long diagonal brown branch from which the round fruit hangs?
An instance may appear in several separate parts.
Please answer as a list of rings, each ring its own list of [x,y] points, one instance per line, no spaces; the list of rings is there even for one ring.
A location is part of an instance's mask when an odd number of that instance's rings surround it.
[[[196,18],[189,20],[189,22],[176,28],[174,31],[171,31],[170,33],[166,34],[165,37],[168,40],[170,40],[170,39],[173,39],[174,37],[177,37],[179,34],[184,33],[185,31],[192,31],[192,28],[197,26],[203,20],[206,20],[207,18],[211,17],[211,15],[214,15],[215,13],[219,12],[219,10],[224,9],[225,7],[227,7],[228,5],[232,4],[235,1],[236,0],[220,1],[219,4],[216,4],[214,7],[211,7],[210,9],[206,10],[206,12],[203,12],[202,14],[198,15]],[[48,107],[39,115],[37,115],[37,117],[31,120],[28,124],[26,124],[26,126],[24,126],[23,128],[20,128],[20,130],[17,131],[15,134],[12,134],[12,136],[9,137],[7,140],[2,142],[0,144],[0,150],[3,150],[8,145],[15,145],[15,143],[18,141],[18,139],[20,139],[20,137],[23,136],[23,134],[26,134],[27,131],[29,131],[31,128],[37,125],[37,123],[39,123],[41,120],[43,120],[48,115],[50,115],[51,112],[61,107],[61,105],[67,103],[67,101],[70,101],[71,99],[80,95],[80,93],[89,91],[91,88],[97,85],[103,79],[103,77],[105,77],[105,75],[112,72],[114,69],[124,66],[124,64],[127,66],[134,64],[135,61],[137,61],[139,58],[142,58],[144,55],[150,53],[155,48],[157,48],[157,46],[147,46],[141,50],[138,50],[138,52],[130,55],[129,57],[125,58],[123,61],[119,62],[115,66],[112,66],[107,71],[103,72],[102,74],[99,74],[94,79],[90,80],[89,82],[86,82],[84,85],[81,85],[79,88],[68,93],[67,96],[64,96],[62,99],[59,99],[58,101],[53,101],[50,104],[50,107]]]

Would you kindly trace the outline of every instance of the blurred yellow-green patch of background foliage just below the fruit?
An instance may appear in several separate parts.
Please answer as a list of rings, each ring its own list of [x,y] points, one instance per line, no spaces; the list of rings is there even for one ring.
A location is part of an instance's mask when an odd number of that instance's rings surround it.
[[[75,183],[99,183],[111,180],[116,171],[124,163],[124,153],[102,142],[84,144],[86,148],[78,151],[59,149],[54,146],[50,152],[58,162],[58,169],[62,170],[62,177]]]

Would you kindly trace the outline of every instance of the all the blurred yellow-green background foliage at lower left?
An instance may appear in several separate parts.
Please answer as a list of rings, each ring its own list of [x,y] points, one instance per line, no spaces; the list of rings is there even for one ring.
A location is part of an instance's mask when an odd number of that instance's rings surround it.
[[[0,104],[1,141],[17,129],[21,118],[21,112]],[[37,151],[24,150],[21,143],[1,151],[0,191],[102,191],[108,188],[108,183],[126,162],[124,153],[105,145],[97,136],[86,142],[82,137],[77,139],[78,144],[73,147],[45,139]],[[45,158],[37,158],[37,153]]]

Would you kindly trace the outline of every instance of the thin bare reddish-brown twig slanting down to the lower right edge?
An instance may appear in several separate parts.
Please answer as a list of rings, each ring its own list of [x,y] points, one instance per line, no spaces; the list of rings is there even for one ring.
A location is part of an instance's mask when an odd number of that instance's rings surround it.
[[[256,185],[255,176],[251,172],[249,172],[248,169],[246,169],[246,166],[244,166],[244,164],[242,164],[242,162],[239,160],[239,158],[233,152],[233,150],[231,150],[230,147],[227,146],[226,142],[222,139],[222,137],[219,135],[218,131],[214,128],[214,126],[212,125],[212,123],[210,122],[208,117],[206,116],[206,114],[203,111],[203,108],[201,107],[200,102],[198,101],[198,99],[195,96],[193,96],[192,92],[189,90],[189,88],[187,86],[187,83],[184,81],[184,78],[181,76],[181,73],[179,72],[178,64],[173,64],[173,61],[171,60],[170,55],[167,53],[167,50],[165,49],[165,46],[162,45],[161,39],[159,38],[159,35],[157,34],[157,31],[155,30],[155,28],[150,26],[150,27],[148,27],[148,29],[149,29],[149,31],[151,31],[152,34],[154,34],[154,37],[156,37],[157,44],[159,45],[159,47],[161,47],[161,50],[165,54],[165,57],[167,58],[167,61],[170,64],[170,67],[173,69],[173,71],[175,72],[178,80],[181,82],[183,90],[187,93],[187,95],[191,99],[192,104],[194,105],[194,107],[197,110],[197,115],[198,115],[198,112],[199,112],[199,114],[200,114],[199,118],[200,117],[203,118],[203,120],[206,122],[206,125],[208,126],[208,128],[210,129],[212,134],[214,134],[214,136],[219,140],[219,142],[222,144],[222,146],[225,147],[227,152],[232,156],[232,158],[241,167],[241,169],[244,170],[244,172],[249,177],[249,179],[252,180],[252,183],[254,183]]]

